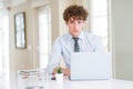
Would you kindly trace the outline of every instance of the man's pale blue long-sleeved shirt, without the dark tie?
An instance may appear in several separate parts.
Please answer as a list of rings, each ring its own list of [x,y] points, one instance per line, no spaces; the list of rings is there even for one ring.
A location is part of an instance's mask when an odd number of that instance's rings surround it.
[[[82,31],[78,42],[80,52],[104,51],[101,39],[95,34]],[[53,69],[60,65],[61,57],[65,62],[65,67],[70,69],[71,52],[73,51],[74,40],[70,33],[58,37],[53,42],[48,71],[52,73]]]

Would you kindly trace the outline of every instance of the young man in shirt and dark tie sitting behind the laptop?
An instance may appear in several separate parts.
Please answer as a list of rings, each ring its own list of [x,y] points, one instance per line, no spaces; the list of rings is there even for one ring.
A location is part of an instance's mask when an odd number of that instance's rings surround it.
[[[88,11],[78,4],[72,4],[64,10],[63,19],[68,26],[69,33],[58,37],[53,43],[48,66],[50,73],[55,73],[55,69],[59,67],[62,57],[66,66],[66,68],[63,69],[63,73],[70,76],[71,52],[73,51],[104,51],[103,44],[96,36],[82,31],[88,14]]]

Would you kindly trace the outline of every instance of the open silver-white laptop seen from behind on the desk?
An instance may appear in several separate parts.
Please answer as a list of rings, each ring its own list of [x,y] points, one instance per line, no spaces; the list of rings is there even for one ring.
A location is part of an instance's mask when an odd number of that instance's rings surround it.
[[[110,52],[72,52],[70,80],[105,80],[112,78]]]

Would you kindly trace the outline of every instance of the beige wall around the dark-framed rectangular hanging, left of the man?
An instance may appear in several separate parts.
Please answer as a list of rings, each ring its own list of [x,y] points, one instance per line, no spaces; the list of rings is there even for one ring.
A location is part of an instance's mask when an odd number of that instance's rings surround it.
[[[35,11],[38,7],[45,4],[48,0],[27,1],[10,9],[10,46],[9,46],[9,61],[10,71],[37,68],[37,19]],[[25,12],[25,36],[27,49],[17,49],[14,44],[14,14],[18,12]]]

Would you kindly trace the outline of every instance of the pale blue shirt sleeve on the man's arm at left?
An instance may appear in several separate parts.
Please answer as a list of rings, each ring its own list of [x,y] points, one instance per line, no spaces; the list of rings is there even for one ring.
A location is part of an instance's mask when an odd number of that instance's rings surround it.
[[[61,58],[61,43],[60,43],[60,39],[58,38],[53,42],[51,56],[49,58],[49,65],[48,65],[49,73],[52,73],[53,69],[60,65],[60,58]]]

